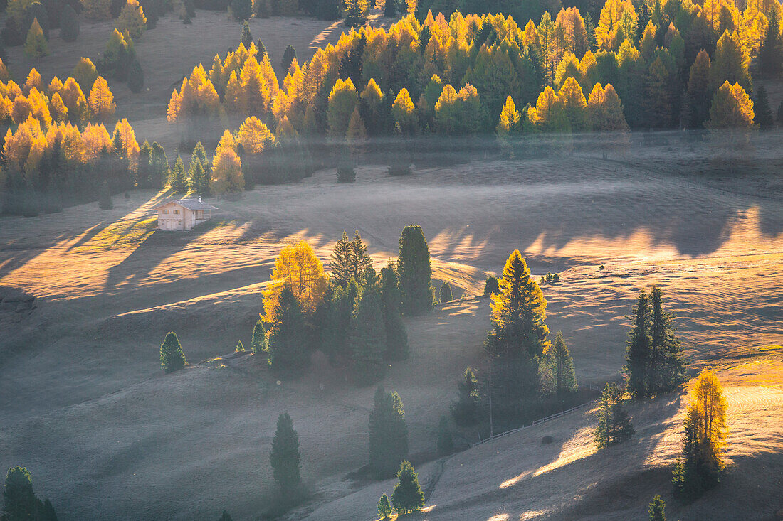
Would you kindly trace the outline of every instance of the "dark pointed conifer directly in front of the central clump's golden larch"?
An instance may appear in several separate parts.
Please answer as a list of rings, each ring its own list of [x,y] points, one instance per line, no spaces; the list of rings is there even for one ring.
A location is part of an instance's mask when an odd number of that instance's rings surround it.
[[[272,320],[269,328],[269,365],[272,369],[298,369],[309,365],[305,317],[288,284],[280,292]]]

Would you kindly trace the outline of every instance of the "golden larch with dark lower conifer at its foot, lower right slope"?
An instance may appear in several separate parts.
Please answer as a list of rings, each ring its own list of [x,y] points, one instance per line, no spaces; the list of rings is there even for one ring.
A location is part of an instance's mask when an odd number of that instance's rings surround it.
[[[715,487],[726,466],[726,398],[714,372],[703,369],[689,393],[682,453],[673,472],[674,491],[692,501]]]

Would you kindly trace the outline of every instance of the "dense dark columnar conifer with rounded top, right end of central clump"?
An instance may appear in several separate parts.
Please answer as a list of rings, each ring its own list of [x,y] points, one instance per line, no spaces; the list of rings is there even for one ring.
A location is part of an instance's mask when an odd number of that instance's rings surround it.
[[[397,272],[402,312],[417,315],[431,310],[435,289],[432,287],[430,250],[420,226],[406,226],[402,230]]]

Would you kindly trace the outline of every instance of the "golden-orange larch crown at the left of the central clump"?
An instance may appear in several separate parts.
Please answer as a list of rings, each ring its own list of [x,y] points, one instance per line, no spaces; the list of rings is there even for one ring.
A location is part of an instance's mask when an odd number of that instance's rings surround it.
[[[264,320],[272,322],[272,313],[283,286],[290,286],[302,311],[312,314],[323,300],[328,284],[323,264],[306,241],[283,247],[272,268],[272,282],[263,291]]]

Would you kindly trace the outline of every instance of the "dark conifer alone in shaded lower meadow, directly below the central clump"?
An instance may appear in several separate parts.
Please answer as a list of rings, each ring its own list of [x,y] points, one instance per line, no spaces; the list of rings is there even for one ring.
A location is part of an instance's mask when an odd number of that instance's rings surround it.
[[[378,477],[393,476],[408,456],[408,426],[397,393],[375,391],[370,413],[370,468]]]

